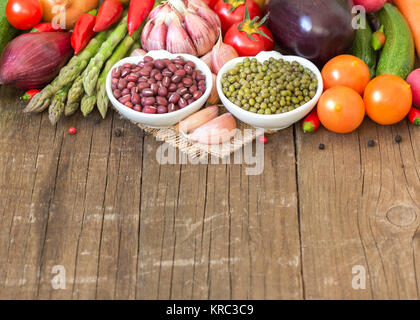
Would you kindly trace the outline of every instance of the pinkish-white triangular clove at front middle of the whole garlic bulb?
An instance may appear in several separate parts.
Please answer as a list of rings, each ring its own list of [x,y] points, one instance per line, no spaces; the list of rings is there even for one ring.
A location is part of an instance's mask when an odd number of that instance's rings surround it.
[[[181,22],[177,16],[174,16],[168,27],[166,50],[171,53],[185,53],[197,56],[197,50],[187,31],[181,26]]]

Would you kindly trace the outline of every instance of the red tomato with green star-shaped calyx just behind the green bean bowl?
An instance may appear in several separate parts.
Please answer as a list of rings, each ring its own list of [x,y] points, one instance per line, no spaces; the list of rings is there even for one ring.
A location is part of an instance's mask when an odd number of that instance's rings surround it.
[[[267,16],[258,22],[251,20],[248,10],[245,9],[244,21],[235,23],[226,33],[225,43],[235,48],[241,57],[256,56],[261,51],[274,49],[273,34],[263,25]]]

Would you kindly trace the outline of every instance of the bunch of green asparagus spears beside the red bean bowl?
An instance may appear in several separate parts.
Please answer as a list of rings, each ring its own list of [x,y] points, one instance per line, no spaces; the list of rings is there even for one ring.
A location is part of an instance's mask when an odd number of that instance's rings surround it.
[[[87,116],[97,106],[105,118],[109,106],[107,74],[136,47],[141,28],[131,36],[127,32],[125,16],[114,29],[98,33],[82,52],[70,59],[53,82],[34,96],[24,112],[49,108],[50,122],[56,124],[63,114],[70,116],[80,109]]]

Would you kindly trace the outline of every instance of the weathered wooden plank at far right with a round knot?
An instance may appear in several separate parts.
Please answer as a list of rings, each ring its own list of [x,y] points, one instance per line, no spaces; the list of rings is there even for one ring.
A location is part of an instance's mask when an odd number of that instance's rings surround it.
[[[410,143],[410,132],[418,134],[414,129],[405,121],[383,127],[366,120],[350,135],[298,133],[307,298],[418,298],[413,238],[420,223],[420,181],[418,150]],[[403,143],[394,142],[397,134]],[[369,139],[375,148],[367,146]],[[317,150],[320,142],[326,150]],[[366,270],[366,290],[352,287],[357,265]]]

